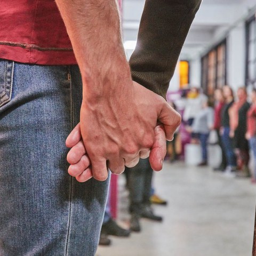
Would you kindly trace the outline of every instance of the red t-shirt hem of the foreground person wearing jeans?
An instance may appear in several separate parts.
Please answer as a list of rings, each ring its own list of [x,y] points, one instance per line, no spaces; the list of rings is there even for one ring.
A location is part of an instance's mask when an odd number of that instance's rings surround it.
[[[1,1],[0,20],[0,58],[43,65],[76,64],[54,0]]]

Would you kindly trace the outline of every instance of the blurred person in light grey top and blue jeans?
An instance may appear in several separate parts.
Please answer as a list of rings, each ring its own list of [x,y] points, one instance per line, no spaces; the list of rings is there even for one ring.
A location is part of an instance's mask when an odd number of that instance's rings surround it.
[[[202,162],[198,164],[199,166],[207,165],[207,140],[213,127],[214,118],[214,111],[211,106],[210,100],[203,102],[202,109],[198,111],[191,127],[192,133],[196,134],[202,148]]]

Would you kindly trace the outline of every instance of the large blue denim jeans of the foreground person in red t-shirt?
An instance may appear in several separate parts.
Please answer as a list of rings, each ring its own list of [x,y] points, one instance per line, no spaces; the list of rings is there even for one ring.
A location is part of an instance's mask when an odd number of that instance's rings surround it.
[[[77,66],[0,60],[1,256],[95,254],[108,181],[67,173],[81,101]]]

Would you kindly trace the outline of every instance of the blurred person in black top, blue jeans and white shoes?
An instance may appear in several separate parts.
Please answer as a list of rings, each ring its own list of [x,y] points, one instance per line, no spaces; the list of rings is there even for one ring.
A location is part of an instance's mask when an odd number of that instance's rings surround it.
[[[233,150],[233,142],[230,138],[230,120],[229,120],[229,109],[234,103],[234,94],[230,86],[223,86],[223,96],[225,98],[225,105],[221,111],[221,142],[225,149],[227,166],[225,173],[229,175],[236,171],[236,156]]]

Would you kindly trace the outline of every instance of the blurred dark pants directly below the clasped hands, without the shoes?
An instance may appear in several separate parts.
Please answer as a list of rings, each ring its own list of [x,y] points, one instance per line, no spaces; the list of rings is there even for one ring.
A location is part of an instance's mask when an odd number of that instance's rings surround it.
[[[125,172],[129,176],[130,212],[140,214],[142,206],[150,204],[153,170],[149,164],[149,159],[140,159],[136,166],[126,167]]]

